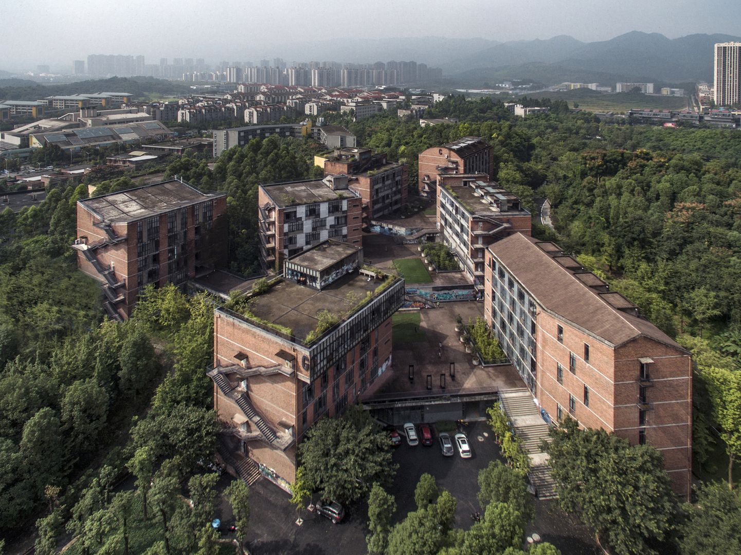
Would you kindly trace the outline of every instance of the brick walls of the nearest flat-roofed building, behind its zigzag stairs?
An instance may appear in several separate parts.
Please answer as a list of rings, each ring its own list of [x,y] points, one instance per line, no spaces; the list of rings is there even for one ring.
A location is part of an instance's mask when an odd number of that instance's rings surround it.
[[[369,361],[373,354],[376,353],[376,358],[383,363],[379,365],[379,372],[388,370],[391,368],[391,347],[389,318],[368,333],[365,350],[359,343],[345,353],[344,370],[338,363],[310,382],[304,362],[308,362],[307,367],[310,367],[316,361],[304,360],[309,352],[306,348],[217,310],[214,319],[214,362],[224,369],[225,376],[236,391],[247,393],[251,404],[270,428],[288,433],[294,440],[286,448],[270,445],[263,439],[243,440],[242,454],[271,468],[288,482],[293,482],[296,479],[296,447],[306,431],[322,416],[339,416],[348,404],[357,402],[359,393],[377,377],[371,376]],[[293,362],[287,364],[277,357],[275,353],[279,350],[293,353]],[[245,354],[245,365],[239,366],[239,357]],[[362,362],[364,360],[365,363]],[[365,368],[361,368],[364,364]],[[285,373],[257,374],[244,379],[239,376],[242,369],[277,366],[282,366]],[[222,424],[227,428],[235,427],[235,415],[242,414],[242,410],[216,385],[213,388],[213,404]],[[250,430],[256,431],[251,423]]]

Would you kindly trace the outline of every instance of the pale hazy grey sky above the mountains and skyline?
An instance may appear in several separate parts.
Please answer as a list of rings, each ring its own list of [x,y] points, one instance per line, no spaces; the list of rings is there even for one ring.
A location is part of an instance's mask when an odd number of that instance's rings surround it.
[[[422,36],[599,41],[631,30],[741,36],[741,0],[0,0],[0,69],[69,67],[93,53],[143,54],[147,63],[309,61],[319,59],[310,47],[316,41],[334,47],[353,38]]]

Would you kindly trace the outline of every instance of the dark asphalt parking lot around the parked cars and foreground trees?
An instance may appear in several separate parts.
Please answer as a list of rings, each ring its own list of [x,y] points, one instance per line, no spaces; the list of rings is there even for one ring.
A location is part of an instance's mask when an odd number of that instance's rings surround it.
[[[407,445],[403,431],[402,445],[394,450],[393,461],[399,465],[391,493],[398,509],[393,522],[402,520],[409,511],[416,510],[414,488],[422,473],[435,476],[439,488],[450,491],[458,500],[455,526],[468,530],[473,524],[471,513],[482,511],[476,499],[479,491],[478,474],[492,460],[502,460],[486,422],[471,422],[465,428],[472,456],[462,459],[456,448],[453,456],[443,456],[437,433],[433,430],[433,445]],[[451,439],[455,431],[451,431]],[[219,491],[228,485],[230,476],[222,476]],[[366,553],[365,535],[368,534],[368,505],[359,502],[346,508],[347,516],[339,525],[316,514],[302,511],[302,526],[295,524],[298,514],[288,502],[288,493],[266,479],[250,487],[250,530],[247,547],[250,553],[281,555],[363,555]],[[599,551],[589,531],[564,514],[554,501],[536,501],[536,519],[526,534],[538,532],[543,541],[551,542],[564,555],[597,555]],[[221,499],[216,515],[225,525],[232,522],[231,510]]]

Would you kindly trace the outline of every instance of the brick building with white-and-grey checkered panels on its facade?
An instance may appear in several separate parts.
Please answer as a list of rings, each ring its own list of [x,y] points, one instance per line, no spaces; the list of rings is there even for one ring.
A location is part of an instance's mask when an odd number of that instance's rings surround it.
[[[276,270],[290,256],[327,239],[362,246],[362,199],[348,176],[260,185],[260,252]]]

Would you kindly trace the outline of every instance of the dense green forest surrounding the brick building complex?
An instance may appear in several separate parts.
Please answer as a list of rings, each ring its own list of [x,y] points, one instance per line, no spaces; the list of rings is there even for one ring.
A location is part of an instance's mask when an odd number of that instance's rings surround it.
[[[574,253],[692,351],[696,472],[734,485],[741,456],[737,131],[605,123],[548,104],[551,113],[523,120],[500,102],[453,96],[427,115],[459,123],[433,127],[391,113],[328,119],[348,126],[362,146],[407,162],[412,186],[421,150],[463,136],[490,142],[493,179],[531,210],[545,198],[553,206],[555,229],[534,219],[534,233]],[[322,148],[309,139],[255,139],[227,150],[213,169],[184,156],[167,174],[227,193],[230,269],[250,275],[259,270],[257,187],[321,176],[312,157]],[[136,185],[106,173],[87,182],[98,187],[93,194]],[[126,552],[208,553],[214,539],[201,525],[213,506],[213,477],[198,462],[213,452],[216,422],[203,371],[213,306],[162,288],[147,291],[126,324],[105,321],[99,285],[76,271],[70,248],[87,185],[55,186],[38,206],[0,213],[1,531],[22,534],[38,519],[39,554],[71,536],[82,538],[86,554],[124,545]],[[115,491],[121,476],[136,481],[133,495]],[[193,507],[170,503],[180,484],[200,499]],[[248,511],[244,492],[230,499]],[[697,505],[682,514],[708,518]],[[401,546],[400,534],[383,541]],[[682,541],[683,553],[714,553],[703,551],[702,538]]]

